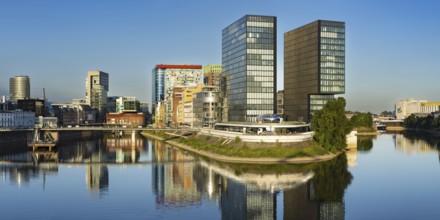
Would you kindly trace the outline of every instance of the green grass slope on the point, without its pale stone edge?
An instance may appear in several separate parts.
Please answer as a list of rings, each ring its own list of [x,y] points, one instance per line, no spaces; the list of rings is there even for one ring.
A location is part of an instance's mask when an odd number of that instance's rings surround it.
[[[190,146],[196,150],[207,151],[219,155],[243,158],[295,158],[313,157],[329,154],[314,141],[294,144],[282,143],[245,143],[239,138],[228,144],[223,144],[225,139],[205,135],[192,135],[187,138],[166,134],[164,131],[148,131],[154,136],[165,140],[176,141]]]

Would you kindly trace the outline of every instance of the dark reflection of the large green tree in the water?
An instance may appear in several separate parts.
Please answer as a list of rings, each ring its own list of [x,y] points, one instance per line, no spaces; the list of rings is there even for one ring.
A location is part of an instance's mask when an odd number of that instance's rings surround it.
[[[345,189],[353,176],[347,170],[347,158],[343,154],[331,161],[320,164],[311,180],[312,199],[320,202],[342,202]]]

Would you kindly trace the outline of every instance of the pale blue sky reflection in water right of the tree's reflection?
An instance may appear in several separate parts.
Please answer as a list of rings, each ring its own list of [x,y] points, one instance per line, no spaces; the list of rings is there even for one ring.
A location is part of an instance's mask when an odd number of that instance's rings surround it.
[[[399,152],[391,135],[380,135],[369,154],[358,155],[357,167],[350,169],[346,219],[438,219],[438,153]]]

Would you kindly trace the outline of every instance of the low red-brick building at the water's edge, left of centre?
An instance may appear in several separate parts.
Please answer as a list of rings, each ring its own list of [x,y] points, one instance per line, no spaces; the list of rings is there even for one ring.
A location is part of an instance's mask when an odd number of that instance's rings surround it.
[[[122,126],[143,126],[145,125],[145,115],[139,113],[107,113],[106,121],[108,125],[122,125]]]

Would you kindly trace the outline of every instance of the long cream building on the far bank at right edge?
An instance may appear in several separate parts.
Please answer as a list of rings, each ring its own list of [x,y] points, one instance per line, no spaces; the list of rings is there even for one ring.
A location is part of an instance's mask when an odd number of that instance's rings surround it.
[[[440,111],[440,102],[428,102],[413,98],[401,100],[395,105],[396,119],[398,120],[403,120],[411,114],[428,115],[438,111]]]

